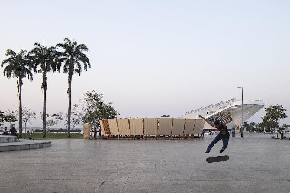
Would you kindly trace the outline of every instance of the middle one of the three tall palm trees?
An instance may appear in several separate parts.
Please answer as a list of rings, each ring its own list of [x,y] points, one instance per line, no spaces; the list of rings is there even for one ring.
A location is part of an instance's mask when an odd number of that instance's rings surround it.
[[[56,70],[60,71],[60,63],[56,62],[56,48],[51,46],[49,48],[42,46],[40,43],[34,43],[34,49],[28,52],[31,56],[32,62],[36,68],[39,65],[38,73],[42,74],[41,90],[43,92],[43,134],[46,137],[46,90],[47,90],[47,77],[48,72],[54,73]]]

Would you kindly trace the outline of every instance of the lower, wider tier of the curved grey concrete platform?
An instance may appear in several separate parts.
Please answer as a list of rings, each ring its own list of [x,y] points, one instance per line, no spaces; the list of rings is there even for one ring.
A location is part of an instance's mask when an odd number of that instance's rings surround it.
[[[19,144],[16,144],[19,143]],[[1,151],[16,151],[16,150],[28,150],[28,149],[37,149],[41,147],[48,147],[51,145],[50,141],[40,142],[40,143],[33,143],[33,144],[22,144],[21,142],[15,142],[11,145],[0,145],[0,152]]]

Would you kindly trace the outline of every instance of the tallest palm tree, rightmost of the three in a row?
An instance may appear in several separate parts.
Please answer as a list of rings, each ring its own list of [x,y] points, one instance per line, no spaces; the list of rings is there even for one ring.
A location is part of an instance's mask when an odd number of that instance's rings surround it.
[[[67,95],[69,97],[69,109],[67,119],[67,137],[70,138],[70,117],[71,117],[71,91],[72,91],[72,76],[76,73],[81,75],[82,66],[87,71],[88,67],[91,68],[91,63],[88,57],[82,52],[89,52],[88,47],[85,44],[78,44],[77,41],[71,41],[69,38],[64,38],[64,43],[59,43],[56,48],[63,48],[63,52],[58,52],[58,59],[63,63],[63,72],[68,73]]]

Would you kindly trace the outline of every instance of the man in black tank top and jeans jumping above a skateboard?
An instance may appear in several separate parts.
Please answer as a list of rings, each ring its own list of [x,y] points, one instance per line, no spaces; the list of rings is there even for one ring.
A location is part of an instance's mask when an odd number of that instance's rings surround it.
[[[218,129],[218,131],[220,131],[220,133],[209,144],[205,153],[209,153],[211,151],[211,148],[214,147],[214,144],[216,144],[220,140],[223,140],[223,144],[224,144],[220,150],[220,153],[223,152],[225,149],[227,149],[227,144],[229,143],[229,139],[230,139],[230,133],[229,131],[227,131],[227,124],[233,120],[230,117],[230,113],[227,112],[227,116],[229,117],[230,120],[224,123],[221,123],[219,120],[215,120],[213,123],[213,122],[208,121],[201,115],[198,115],[198,116],[201,117],[203,120],[205,120],[205,122],[207,122],[208,124],[214,125]]]

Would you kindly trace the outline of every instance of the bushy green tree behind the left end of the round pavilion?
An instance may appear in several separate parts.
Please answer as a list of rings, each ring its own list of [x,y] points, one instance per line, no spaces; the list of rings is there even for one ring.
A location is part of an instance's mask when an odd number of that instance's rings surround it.
[[[105,93],[95,93],[87,91],[83,94],[83,98],[79,99],[79,107],[83,111],[82,122],[94,124],[93,114],[95,105],[95,125],[100,127],[102,119],[116,119],[119,112],[114,109],[112,102],[105,103],[103,96]],[[95,102],[95,103],[94,103]]]

